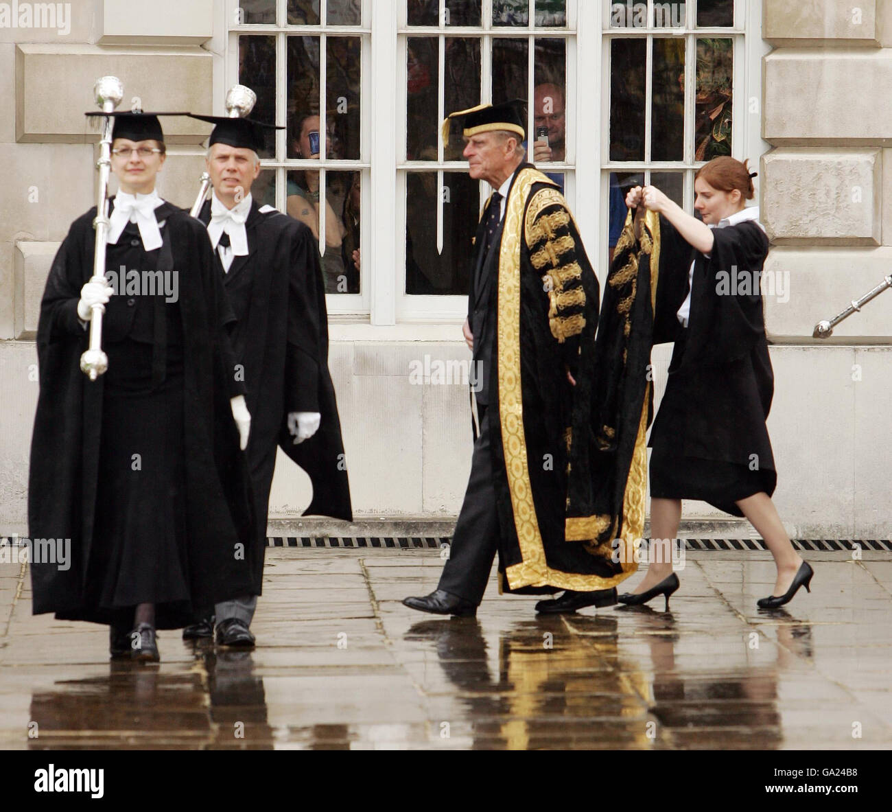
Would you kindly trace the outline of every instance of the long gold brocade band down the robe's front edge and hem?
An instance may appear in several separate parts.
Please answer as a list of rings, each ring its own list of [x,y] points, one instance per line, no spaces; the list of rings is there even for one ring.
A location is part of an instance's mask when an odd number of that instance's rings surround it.
[[[507,568],[506,576],[512,590],[526,586],[555,586],[558,589],[592,592],[611,589],[631,573],[602,578],[549,568],[533,503],[533,486],[526,452],[520,360],[521,231],[524,226],[524,206],[530,190],[543,177],[535,170],[524,169],[518,173],[508,195],[499,257],[499,330],[496,348],[499,353],[499,417],[517,545],[523,557],[520,564]]]

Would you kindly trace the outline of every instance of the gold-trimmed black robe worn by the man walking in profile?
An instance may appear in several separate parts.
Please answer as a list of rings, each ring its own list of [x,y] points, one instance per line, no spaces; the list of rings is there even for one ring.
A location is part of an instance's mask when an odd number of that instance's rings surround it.
[[[591,506],[575,498],[591,479],[580,449],[591,445],[598,279],[563,195],[530,164],[516,173],[496,239],[483,257],[482,223],[468,318],[489,405],[500,586],[609,589],[634,567],[596,542]]]

